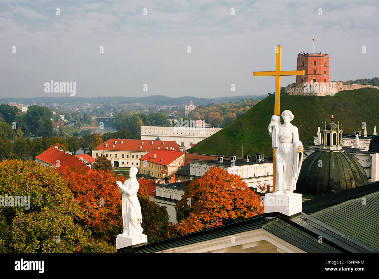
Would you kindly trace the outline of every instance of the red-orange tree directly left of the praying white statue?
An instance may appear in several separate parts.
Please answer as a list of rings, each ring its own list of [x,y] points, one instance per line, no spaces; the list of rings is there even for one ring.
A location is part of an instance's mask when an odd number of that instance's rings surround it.
[[[122,232],[122,217],[121,195],[113,173],[104,170],[88,173],[67,165],[55,170],[67,181],[80,205],[81,224],[91,229],[95,239],[114,244],[116,235]]]

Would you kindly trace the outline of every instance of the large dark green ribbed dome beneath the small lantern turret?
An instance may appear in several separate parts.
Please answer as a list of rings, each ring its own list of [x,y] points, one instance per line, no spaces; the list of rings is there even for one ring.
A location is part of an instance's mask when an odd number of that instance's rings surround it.
[[[322,167],[319,167],[320,160]],[[294,192],[323,196],[355,188],[367,182],[362,166],[348,152],[318,150],[302,163]]]

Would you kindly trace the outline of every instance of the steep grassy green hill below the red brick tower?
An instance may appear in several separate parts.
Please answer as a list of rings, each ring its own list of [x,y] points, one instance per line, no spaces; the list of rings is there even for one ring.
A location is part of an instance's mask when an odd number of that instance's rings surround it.
[[[280,112],[291,110],[293,125],[299,129],[299,138],[304,146],[313,141],[321,121],[330,122],[334,105],[334,122],[343,122],[343,134],[354,134],[366,122],[367,134],[372,135],[374,126],[379,128],[379,90],[360,88],[338,92],[335,96],[280,96]],[[254,107],[230,123],[221,131],[202,140],[188,152],[241,157],[247,153],[255,157],[262,152],[272,156],[268,125],[274,112],[274,95],[258,102]],[[282,120],[283,123],[283,120]],[[243,150],[242,150],[243,146]]]

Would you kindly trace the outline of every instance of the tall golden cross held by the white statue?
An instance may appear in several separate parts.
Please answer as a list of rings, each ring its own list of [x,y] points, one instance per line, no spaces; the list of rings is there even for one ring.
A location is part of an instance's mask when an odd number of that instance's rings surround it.
[[[282,46],[276,46],[276,65],[275,71],[270,72],[253,72],[253,76],[275,76],[275,101],[274,101],[274,114],[280,115],[280,76],[297,76],[304,75],[304,71],[281,71],[282,69]],[[275,192],[275,180],[276,180],[276,162],[273,162],[273,192]]]

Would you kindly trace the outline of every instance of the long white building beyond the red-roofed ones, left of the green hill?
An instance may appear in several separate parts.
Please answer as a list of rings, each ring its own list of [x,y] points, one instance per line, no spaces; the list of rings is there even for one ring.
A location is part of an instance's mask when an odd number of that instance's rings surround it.
[[[196,124],[192,127],[183,127],[183,123],[179,121],[175,123],[172,126],[141,126],[141,139],[155,140],[159,137],[160,140],[172,140],[188,149],[194,143],[199,143],[222,129],[222,127],[203,127]]]

